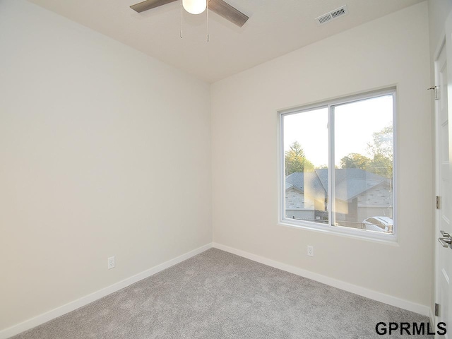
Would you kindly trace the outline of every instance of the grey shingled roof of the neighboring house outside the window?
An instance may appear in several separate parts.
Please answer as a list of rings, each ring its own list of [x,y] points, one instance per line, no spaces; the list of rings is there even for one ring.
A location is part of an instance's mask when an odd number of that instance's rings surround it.
[[[359,168],[335,169],[335,196],[349,201],[359,194],[390,180],[378,174]],[[328,192],[328,169],[314,169],[314,172],[295,172],[285,178],[286,190],[292,187],[314,198],[324,198]]]

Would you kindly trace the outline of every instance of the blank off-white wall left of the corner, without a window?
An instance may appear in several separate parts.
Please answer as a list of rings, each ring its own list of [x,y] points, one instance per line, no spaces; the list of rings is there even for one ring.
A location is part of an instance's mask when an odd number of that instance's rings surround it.
[[[207,83],[23,0],[0,46],[0,330],[212,241]]]

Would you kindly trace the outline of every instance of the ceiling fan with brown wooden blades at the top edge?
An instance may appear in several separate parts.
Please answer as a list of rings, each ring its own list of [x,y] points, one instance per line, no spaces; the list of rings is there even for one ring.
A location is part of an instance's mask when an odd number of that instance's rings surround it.
[[[143,11],[148,11],[148,9],[152,9],[155,7],[159,7],[162,5],[169,4],[174,1],[181,1],[181,0],[145,0],[143,2],[140,2],[139,4],[135,4],[130,6],[134,11],[137,11],[138,13],[141,13]],[[189,0],[184,0],[184,2],[190,3]],[[242,27],[244,23],[246,23],[246,20],[248,20],[248,16],[244,15],[241,11],[237,10],[237,8],[232,7],[230,4],[227,4],[227,2],[223,0],[207,0],[208,1],[208,9],[212,10],[213,12],[217,13],[218,15],[222,16],[223,18],[230,20],[231,23],[234,23],[235,25]],[[186,5],[184,4],[184,8],[186,8]],[[206,7],[204,7],[206,8]],[[187,10],[188,11],[188,10]],[[202,10],[204,11],[204,10]],[[201,12],[202,12],[201,11]],[[189,11],[190,13],[194,13]],[[201,13],[199,12],[199,13]],[[198,12],[196,12],[198,13]]]

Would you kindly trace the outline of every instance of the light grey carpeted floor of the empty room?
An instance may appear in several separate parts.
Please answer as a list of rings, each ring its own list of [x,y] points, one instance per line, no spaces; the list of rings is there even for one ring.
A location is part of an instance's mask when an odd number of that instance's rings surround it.
[[[13,338],[433,338],[377,335],[380,321],[428,319],[209,249]]]

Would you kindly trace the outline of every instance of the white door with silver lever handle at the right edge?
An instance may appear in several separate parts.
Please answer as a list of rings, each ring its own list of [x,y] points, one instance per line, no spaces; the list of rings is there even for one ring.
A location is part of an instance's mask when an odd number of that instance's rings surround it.
[[[436,195],[439,206],[436,210],[436,303],[439,304],[436,323],[446,323],[447,333],[443,338],[452,338],[452,245],[448,244],[452,236],[451,206],[451,167],[449,161],[449,113],[448,104],[452,100],[448,95],[448,83],[452,84],[452,16],[446,23],[446,44],[441,48],[435,61],[436,85]],[[451,79],[451,80],[448,80]],[[452,127],[452,126],[451,126]]]

